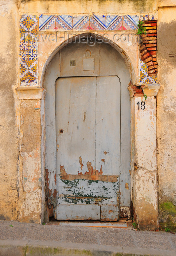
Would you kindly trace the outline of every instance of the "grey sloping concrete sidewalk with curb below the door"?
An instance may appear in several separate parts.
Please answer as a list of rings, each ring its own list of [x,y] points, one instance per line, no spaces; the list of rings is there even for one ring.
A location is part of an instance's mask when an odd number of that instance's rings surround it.
[[[176,235],[128,228],[0,221],[0,256],[176,255]]]

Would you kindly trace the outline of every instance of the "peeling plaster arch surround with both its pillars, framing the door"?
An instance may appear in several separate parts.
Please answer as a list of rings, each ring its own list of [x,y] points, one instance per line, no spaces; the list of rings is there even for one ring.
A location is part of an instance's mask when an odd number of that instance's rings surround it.
[[[118,31],[123,34],[124,31]],[[126,31],[127,34],[130,31]],[[56,44],[47,45],[45,42],[38,42],[38,74],[36,86],[19,85],[16,88],[15,97],[17,99],[17,113],[19,114],[17,121],[19,123],[19,220],[25,222],[42,223],[44,218],[48,219],[52,208],[47,207],[45,200],[45,191],[53,196],[56,196],[56,190],[49,187],[49,173],[45,170],[45,112],[44,98],[45,89],[43,88],[47,66],[50,65],[54,55],[69,44],[70,40],[75,36],[82,34],[82,31],[75,31],[69,40],[57,41]],[[134,209],[134,218],[141,229],[158,229],[158,196],[157,196],[157,166],[156,166],[156,95],[159,91],[160,84],[144,83],[142,87],[139,84],[140,59],[138,56],[138,42],[132,44],[124,44],[120,40],[114,38],[113,31],[107,33],[99,31],[94,33],[86,32],[85,34],[102,35],[108,43],[124,57],[124,61],[128,65],[129,73],[132,82],[128,86],[131,99],[131,199]],[[42,54],[41,54],[42,53]],[[20,70],[20,67],[19,67]],[[39,84],[39,86],[38,86]],[[143,93],[147,96],[145,104],[148,105],[148,110],[138,111],[138,102],[144,100]],[[34,106],[34,108],[31,108]],[[36,117],[36,113],[40,114],[40,123],[32,123]],[[141,112],[141,113],[140,113]],[[22,119],[20,119],[20,116]],[[23,118],[23,117],[26,118]],[[29,125],[29,122],[31,123]],[[23,134],[30,134],[31,129],[34,129],[39,134],[40,140],[36,144],[32,138],[28,138],[26,143]],[[148,134],[150,131],[150,134]],[[146,134],[148,134],[146,136]],[[148,139],[147,151],[144,142]],[[149,140],[150,139],[150,140]],[[21,151],[21,146],[23,150]],[[145,146],[145,147],[144,147]],[[141,148],[145,148],[146,154],[143,154]],[[29,153],[30,152],[30,153]],[[31,154],[32,152],[32,154]],[[34,162],[37,168],[30,163]],[[47,168],[46,168],[47,169]],[[25,183],[26,175],[34,176],[31,180],[34,188],[38,188],[38,197],[36,192],[30,192],[28,182]],[[31,176],[29,176],[29,180]],[[46,182],[45,182],[46,181]],[[21,185],[22,184],[22,185]],[[31,186],[30,184],[30,186]],[[46,184],[46,186],[45,186]],[[143,189],[145,188],[145,189]],[[25,193],[24,193],[25,191]],[[52,200],[51,200],[52,201]],[[47,208],[47,210],[46,210]],[[125,209],[124,209],[125,211]],[[47,212],[47,214],[46,214]],[[45,217],[44,217],[45,215]]]

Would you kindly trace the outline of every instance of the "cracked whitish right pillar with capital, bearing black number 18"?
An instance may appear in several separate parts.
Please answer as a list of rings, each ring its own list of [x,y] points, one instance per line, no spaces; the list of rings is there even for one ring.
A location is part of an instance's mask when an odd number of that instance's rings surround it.
[[[140,229],[159,228],[157,197],[156,95],[159,84],[146,84],[132,103],[132,200]]]

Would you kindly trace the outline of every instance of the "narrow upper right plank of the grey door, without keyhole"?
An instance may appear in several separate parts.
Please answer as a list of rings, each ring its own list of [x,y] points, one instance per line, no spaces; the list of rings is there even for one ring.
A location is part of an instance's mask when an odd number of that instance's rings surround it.
[[[117,76],[97,76],[96,167],[120,174],[120,83]]]

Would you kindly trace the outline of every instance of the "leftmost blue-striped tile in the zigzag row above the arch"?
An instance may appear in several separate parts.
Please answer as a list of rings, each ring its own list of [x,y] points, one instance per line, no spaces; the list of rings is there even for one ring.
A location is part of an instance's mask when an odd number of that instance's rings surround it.
[[[55,30],[56,17],[55,15],[40,15],[39,16],[39,31]]]

